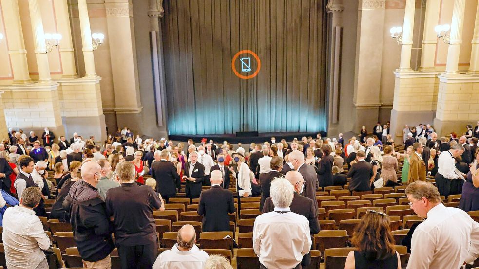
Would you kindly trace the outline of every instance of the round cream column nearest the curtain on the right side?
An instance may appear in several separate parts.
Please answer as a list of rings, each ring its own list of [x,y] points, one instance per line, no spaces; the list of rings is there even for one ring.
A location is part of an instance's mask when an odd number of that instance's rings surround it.
[[[415,7],[416,0],[406,0],[404,23],[402,25],[401,63],[398,69],[399,72],[411,70],[411,49]]]

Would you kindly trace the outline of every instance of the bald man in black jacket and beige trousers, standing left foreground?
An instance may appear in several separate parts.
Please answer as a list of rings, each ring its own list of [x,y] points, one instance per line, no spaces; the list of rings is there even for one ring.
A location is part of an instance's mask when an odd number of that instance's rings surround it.
[[[73,238],[81,259],[88,268],[111,268],[110,253],[115,248],[112,239],[113,225],[106,213],[105,202],[96,190],[101,177],[101,167],[94,161],[81,166],[83,180],[75,182],[63,207],[70,212]]]

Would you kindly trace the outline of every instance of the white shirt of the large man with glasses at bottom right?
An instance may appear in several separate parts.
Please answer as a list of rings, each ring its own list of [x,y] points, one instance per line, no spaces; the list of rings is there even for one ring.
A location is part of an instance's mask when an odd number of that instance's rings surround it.
[[[479,256],[479,223],[439,204],[414,230],[408,269],[459,269]]]

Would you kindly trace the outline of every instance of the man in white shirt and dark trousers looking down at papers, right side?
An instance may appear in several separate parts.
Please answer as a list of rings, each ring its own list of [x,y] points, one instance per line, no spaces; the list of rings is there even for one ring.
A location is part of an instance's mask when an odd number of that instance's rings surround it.
[[[439,193],[447,198],[451,192],[451,182],[466,175],[456,169],[456,160],[464,152],[460,144],[452,145],[447,151],[441,152],[438,159],[438,173],[436,174],[436,186]]]

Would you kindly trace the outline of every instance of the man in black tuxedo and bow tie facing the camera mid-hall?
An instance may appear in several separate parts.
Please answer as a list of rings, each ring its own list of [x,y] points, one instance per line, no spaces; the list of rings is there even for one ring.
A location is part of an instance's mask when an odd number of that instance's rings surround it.
[[[190,199],[199,198],[201,193],[201,183],[205,177],[205,166],[199,163],[198,153],[190,153],[190,160],[185,164],[186,197]]]

